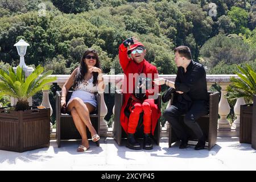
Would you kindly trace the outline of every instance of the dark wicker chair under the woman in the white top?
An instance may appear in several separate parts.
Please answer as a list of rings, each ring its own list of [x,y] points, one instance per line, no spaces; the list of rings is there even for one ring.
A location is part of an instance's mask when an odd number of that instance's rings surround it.
[[[66,103],[68,103],[71,98],[73,91],[68,91]],[[100,131],[100,94],[96,94],[97,100],[97,109],[96,113],[90,114],[90,121],[94,129],[97,133]],[[61,113],[61,92],[56,92],[56,135],[57,135],[57,146],[61,146],[61,140],[69,140],[69,139],[81,139],[81,135],[79,131],[77,131],[75,123],[73,122],[73,118],[71,114],[63,114]],[[86,127],[86,133],[88,139],[91,139],[90,132]],[[97,146],[100,146],[100,140],[96,142]]]

